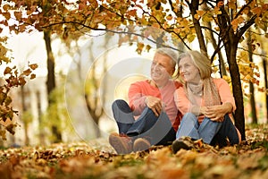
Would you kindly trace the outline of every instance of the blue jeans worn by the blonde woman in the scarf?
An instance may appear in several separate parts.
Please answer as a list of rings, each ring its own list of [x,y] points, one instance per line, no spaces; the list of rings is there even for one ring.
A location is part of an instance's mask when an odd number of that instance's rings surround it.
[[[239,143],[239,135],[231,123],[229,115],[224,116],[222,123],[211,121],[205,117],[199,124],[196,115],[187,113],[182,117],[176,139],[180,139],[182,136],[189,136],[194,140],[203,139],[205,143],[211,145],[218,143],[220,146],[226,146],[227,138],[232,145]]]

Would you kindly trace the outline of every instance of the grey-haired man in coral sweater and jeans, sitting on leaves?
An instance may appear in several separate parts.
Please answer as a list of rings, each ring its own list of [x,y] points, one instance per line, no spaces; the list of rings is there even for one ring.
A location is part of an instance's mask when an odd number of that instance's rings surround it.
[[[151,64],[151,79],[130,85],[129,103],[113,102],[113,116],[119,133],[112,133],[109,142],[118,154],[149,149],[151,145],[168,145],[175,140],[180,124],[180,112],[173,93],[181,84],[177,77],[178,55],[171,48],[155,51]]]

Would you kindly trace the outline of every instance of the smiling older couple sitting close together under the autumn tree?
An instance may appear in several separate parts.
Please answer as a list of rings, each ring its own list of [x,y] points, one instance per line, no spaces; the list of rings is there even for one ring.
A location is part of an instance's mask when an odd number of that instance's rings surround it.
[[[172,144],[176,153],[188,149],[183,136],[211,145],[226,146],[227,139],[230,144],[239,143],[239,131],[231,121],[235,102],[229,85],[211,73],[209,59],[197,51],[178,57],[171,48],[156,49],[151,80],[130,85],[129,104],[121,99],[113,102],[119,129],[109,136],[113,149],[127,154]],[[182,83],[172,80],[178,75]]]

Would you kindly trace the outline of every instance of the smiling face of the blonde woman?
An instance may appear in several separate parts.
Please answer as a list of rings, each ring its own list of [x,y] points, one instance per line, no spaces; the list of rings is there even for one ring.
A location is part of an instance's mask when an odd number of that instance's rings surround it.
[[[199,70],[189,56],[180,59],[179,71],[183,81],[199,83],[201,80]]]

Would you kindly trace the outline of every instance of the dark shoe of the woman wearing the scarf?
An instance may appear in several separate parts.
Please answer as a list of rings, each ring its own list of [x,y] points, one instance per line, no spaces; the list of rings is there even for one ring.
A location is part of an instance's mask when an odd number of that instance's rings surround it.
[[[193,141],[188,137],[183,137],[172,142],[173,154],[176,154],[180,149],[192,149],[193,147]]]

